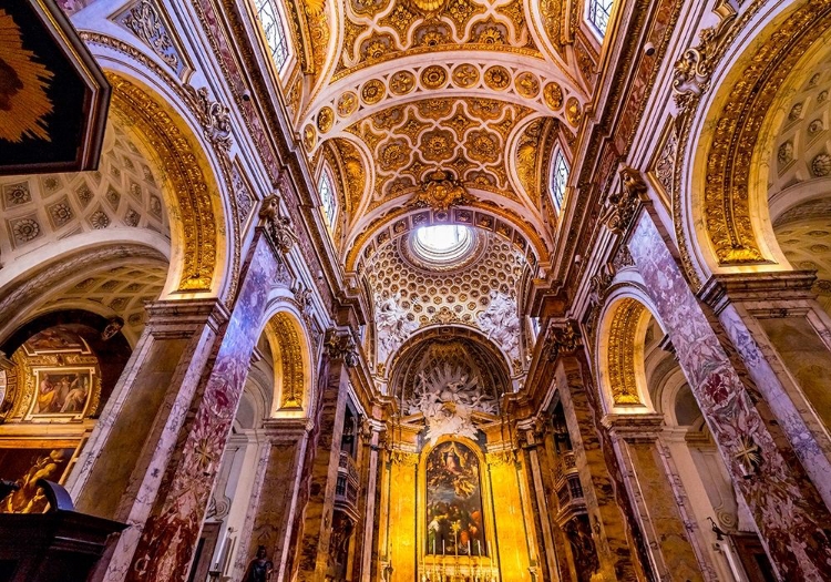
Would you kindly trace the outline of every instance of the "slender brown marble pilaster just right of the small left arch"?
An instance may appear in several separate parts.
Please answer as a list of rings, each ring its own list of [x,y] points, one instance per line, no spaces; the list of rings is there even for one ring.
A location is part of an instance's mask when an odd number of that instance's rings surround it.
[[[349,372],[339,355],[327,355],[324,364],[319,408],[315,418],[316,435],[309,443],[314,458],[309,464],[308,500],[305,504],[297,576],[287,580],[319,582],[329,565],[335,488],[338,480],[340,440],[348,398]]]

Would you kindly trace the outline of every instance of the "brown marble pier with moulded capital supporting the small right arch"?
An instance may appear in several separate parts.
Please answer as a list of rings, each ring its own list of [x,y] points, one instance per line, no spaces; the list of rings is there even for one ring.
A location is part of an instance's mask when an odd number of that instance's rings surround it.
[[[698,554],[690,541],[693,532],[685,525],[691,525],[694,518],[681,513],[685,508],[679,502],[686,500],[679,491],[683,486],[670,480],[665,467],[668,453],[658,440],[663,415],[607,415],[603,423],[609,429],[635,517],[658,578],[715,582],[709,575],[708,557]]]

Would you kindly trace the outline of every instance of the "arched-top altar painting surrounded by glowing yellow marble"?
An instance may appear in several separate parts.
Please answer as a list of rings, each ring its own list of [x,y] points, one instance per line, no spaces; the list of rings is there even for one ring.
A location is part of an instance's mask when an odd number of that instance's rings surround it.
[[[438,445],[427,459],[427,553],[486,555],[479,459],[465,445]]]

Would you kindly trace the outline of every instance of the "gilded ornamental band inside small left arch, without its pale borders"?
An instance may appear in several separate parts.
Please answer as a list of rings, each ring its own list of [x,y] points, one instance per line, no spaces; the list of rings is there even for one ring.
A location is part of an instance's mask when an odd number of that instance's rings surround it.
[[[306,398],[306,374],[298,324],[287,313],[278,313],[268,321],[267,338],[276,368],[275,382],[279,386],[279,409],[300,409]]]

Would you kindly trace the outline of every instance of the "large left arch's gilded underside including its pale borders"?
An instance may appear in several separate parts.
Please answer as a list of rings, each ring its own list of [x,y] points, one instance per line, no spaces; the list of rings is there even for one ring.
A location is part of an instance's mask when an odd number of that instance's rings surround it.
[[[152,90],[122,73],[107,72],[112,114],[132,125],[162,170],[162,192],[171,216],[171,273],[164,298],[217,295],[228,254],[225,213],[207,155],[187,123]]]

